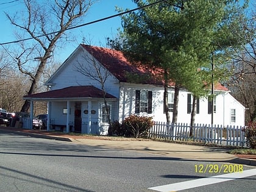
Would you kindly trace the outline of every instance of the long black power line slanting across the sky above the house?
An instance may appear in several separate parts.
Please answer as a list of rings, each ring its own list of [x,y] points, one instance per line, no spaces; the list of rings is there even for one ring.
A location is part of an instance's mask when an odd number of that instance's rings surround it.
[[[130,12],[134,12],[134,11],[136,11],[136,10],[144,9],[144,8],[146,8],[146,7],[149,7],[149,6],[158,4],[158,3],[163,2],[163,1],[166,1],[166,0],[161,0],[161,1],[153,2],[153,3],[151,3],[151,4],[144,5],[144,6],[142,6],[142,7],[137,7],[137,8],[135,8],[135,9],[127,10],[126,12],[118,13],[118,14],[116,14],[116,15],[112,15],[112,16],[107,16],[107,17],[105,17],[105,18],[101,18],[101,19],[99,19],[99,20],[95,20],[95,21],[91,21],[91,22],[88,22],[88,23],[85,23],[85,24],[80,24],[80,25],[78,25],[78,26],[70,27],[70,28],[68,28],[68,29],[65,29],[64,31],[66,31],[66,30],[71,30],[71,29],[76,29],[76,28],[78,28],[78,27],[88,26],[89,24],[98,23],[98,22],[104,21],[104,20],[109,20],[109,19],[114,18],[114,17],[116,17],[116,16],[121,16],[121,15],[130,13]],[[34,38],[40,38],[40,37],[44,37],[44,36],[46,36],[46,35],[57,34],[57,33],[59,33],[59,32],[62,32],[62,30],[58,30],[58,31],[55,31],[55,32],[51,32],[51,33],[49,33],[49,34],[38,35],[37,37],[34,37]],[[31,40],[31,39],[33,39],[33,37],[24,38],[24,39],[22,39],[22,40],[16,40],[16,41],[9,41],[9,42],[5,42],[5,43],[0,43],[0,45],[18,43],[18,42],[20,42],[20,41],[27,41],[27,40]]]

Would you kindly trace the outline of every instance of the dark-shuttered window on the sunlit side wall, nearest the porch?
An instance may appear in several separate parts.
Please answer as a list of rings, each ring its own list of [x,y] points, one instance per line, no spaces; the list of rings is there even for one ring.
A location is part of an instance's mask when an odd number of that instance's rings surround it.
[[[135,113],[152,113],[152,91],[136,90]]]

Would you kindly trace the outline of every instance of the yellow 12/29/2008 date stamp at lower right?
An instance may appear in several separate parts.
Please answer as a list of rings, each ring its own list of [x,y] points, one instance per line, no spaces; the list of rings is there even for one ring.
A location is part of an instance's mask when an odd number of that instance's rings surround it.
[[[243,165],[238,164],[199,164],[194,165],[194,172],[196,173],[232,173],[243,172]]]

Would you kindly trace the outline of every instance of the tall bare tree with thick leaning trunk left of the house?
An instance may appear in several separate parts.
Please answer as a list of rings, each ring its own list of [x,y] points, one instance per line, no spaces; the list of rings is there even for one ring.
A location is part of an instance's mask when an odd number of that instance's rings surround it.
[[[35,93],[47,63],[51,62],[50,59],[54,56],[54,49],[61,40],[69,39],[66,30],[73,27],[87,13],[94,0],[37,2],[24,0],[26,12],[21,12],[21,18],[17,14],[10,16],[5,13],[13,26],[24,32],[23,35],[16,34],[18,39],[27,35],[32,39],[28,43],[20,41],[20,49],[12,52],[21,73],[30,77],[31,86],[27,94]],[[37,66],[35,59],[38,60]],[[25,101],[21,111],[27,112],[29,107],[30,102]]]

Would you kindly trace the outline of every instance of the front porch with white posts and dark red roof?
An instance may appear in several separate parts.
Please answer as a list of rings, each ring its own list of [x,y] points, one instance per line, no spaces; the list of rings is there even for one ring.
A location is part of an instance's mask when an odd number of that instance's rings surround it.
[[[47,130],[107,135],[108,116],[111,121],[118,116],[118,99],[102,92],[93,86],[79,86],[32,94],[24,99],[30,101],[30,117],[34,101],[48,103]],[[27,128],[32,129],[32,118],[28,123]]]

